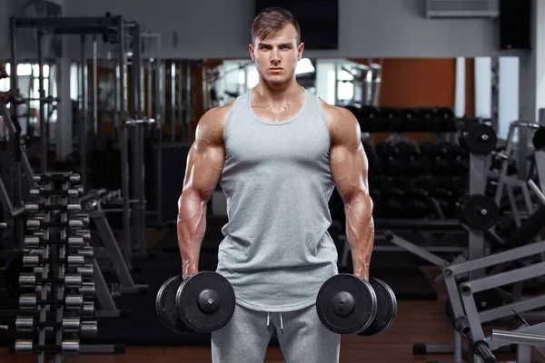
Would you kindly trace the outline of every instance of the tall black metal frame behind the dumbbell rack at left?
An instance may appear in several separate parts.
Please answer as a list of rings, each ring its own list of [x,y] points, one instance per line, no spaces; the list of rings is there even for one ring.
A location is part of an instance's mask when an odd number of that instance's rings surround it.
[[[129,167],[128,167],[128,150],[126,145],[128,143],[128,135],[125,132],[125,127],[123,125],[124,120],[127,120],[129,117],[127,115],[127,104],[126,99],[128,95],[127,90],[127,64],[128,60],[126,59],[126,52],[131,50],[133,52],[131,64],[132,64],[132,76],[133,76],[133,89],[131,95],[133,96],[133,110],[131,114],[135,120],[143,119],[143,103],[144,103],[144,74],[142,72],[142,42],[144,38],[155,38],[157,39],[157,44],[161,46],[161,37],[157,37],[157,34],[143,34],[141,32],[140,25],[135,22],[124,21],[124,18],[121,15],[116,16],[101,16],[101,17],[42,17],[42,18],[10,18],[10,38],[11,38],[11,66],[13,69],[16,69],[17,58],[17,29],[19,28],[31,28],[36,29],[38,34],[38,58],[40,63],[40,97],[45,96],[44,84],[43,84],[43,63],[44,63],[44,54],[41,46],[41,39],[44,34],[79,34],[81,37],[81,69],[80,69],[80,92],[82,96],[82,105],[81,105],[81,123],[80,123],[80,149],[82,157],[82,167],[81,167],[81,177],[82,185],[84,189],[88,189],[88,178],[87,178],[87,132],[89,131],[89,113],[87,103],[88,98],[91,97],[93,101],[94,110],[92,117],[96,118],[96,94],[88,94],[88,84],[87,84],[87,58],[85,54],[85,44],[86,44],[86,35],[93,35],[93,64],[96,65],[96,35],[104,34],[110,37],[114,37],[117,44],[117,60],[116,60],[116,82],[115,82],[115,91],[116,91],[116,108],[118,110],[117,116],[119,117],[119,135],[120,143],[122,145],[122,191],[124,194],[124,200],[129,201],[133,197],[134,203],[134,218],[131,217],[133,212],[128,205],[124,205],[124,241],[125,244],[129,247],[125,247],[125,256],[127,254],[134,254],[134,250],[140,252],[139,249],[145,249],[145,191],[144,191],[144,150],[142,142],[143,130],[141,128],[134,128],[132,144],[132,185],[129,183]],[[158,55],[158,54],[157,54]],[[160,74],[160,67],[157,68],[157,74]],[[161,94],[163,93],[163,82],[159,81],[159,76],[156,77],[157,89],[160,93],[155,93],[155,99],[161,100]],[[94,83],[96,79],[95,69],[94,69]],[[11,77],[11,87],[13,90],[17,89],[17,77]],[[40,110],[42,112],[41,107]],[[45,109],[44,109],[45,110]],[[159,115],[160,122],[163,122],[163,107],[157,111]],[[12,116],[16,119],[16,108],[12,110]],[[42,117],[42,113],[41,113]],[[41,123],[45,125],[45,123]],[[93,124],[93,128],[96,127],[96,122]],[[161,125],[159,128],[161,130]],[[159,132],[160,134],[162,132]],[[45,135],[45,133],[42,133]],[[162,142],[162,136],[161,142]],[[40,167],[41,172],[45,172],[47,165],[44,163],[46,158],[44,157],[46,153],[46,142],[44,137],[41,138],[41,152],[42,152],[42,164]],[[157,152],[157,168],[160,168],[161,164],[161,144]],[[160,169],[157,174],[157,188],[158,193],[161,190],[161,172]],[[15,181],[16,184],[19,182]],[[161,196],[155,196],[156,200],[159,201],[158,208],[158,221],[161,221]],[[133,223],[131,223],[133,221]],[[133,235],[132,235],[133,234]],[[134,239],[134,250],[132,249],[131,240]],[[129,250],[127,250],[129,249]],[[144,251],[144,250],[142,250]],[[128,259],[129,260],[129,259]],[[127,262],[130,262],[128,261]]]

